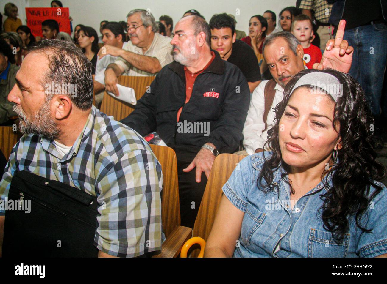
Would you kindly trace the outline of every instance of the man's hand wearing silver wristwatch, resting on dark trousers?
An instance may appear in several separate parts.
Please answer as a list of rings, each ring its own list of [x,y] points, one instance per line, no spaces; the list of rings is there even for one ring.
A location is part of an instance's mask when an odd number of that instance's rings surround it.
[[[206,144],[216,148],[215,145],[212,143],[206,143]],[[212,167],[212,163],[214,163],[214,160],[215,160],[215,156],[214,154],[212,154],[210,150],[206,148],[201,148],[200,151],[195,156],[192,163],[190,163],[190,165],[187,168],[183,169],[183,172],[188,173],[196,167],[196,182],[199,183],[202,180],[201,179],[202,172],[205,173],[205,176],[207,177],[207,179],[210,176],[211,167]]]

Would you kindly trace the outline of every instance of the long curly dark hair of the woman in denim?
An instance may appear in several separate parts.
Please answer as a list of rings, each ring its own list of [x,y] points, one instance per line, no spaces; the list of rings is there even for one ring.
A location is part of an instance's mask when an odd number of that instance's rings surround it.
[[[373,133],[370,129],[374,121],[370,107],[365,100],[365,94],[360,84],[350,75],[332,69],[302,70],[289,80],[284,89],[283,100],[275,107],[274,126],[267,131],[268,139],[265,147],[268,145],[268,148],[272,150],[272,156],[267,157],[262,166],[257,185],[264,192],[272,190],[278,192],[278,185],[272,185],[273,171],[282,166],[285,171],[281,179],[290,185],[291,192],[294,194],[291,181],[285,178],[290,167],[283,161],[279,147],[279,121],[291,97],[290,92],[293,86],[303,75],[312,72],[329,73],[335,76],[343,86],[342,97],[337,99],[332,122],[336,131],[335,126],[337,122],[339,124],[338,134],[341,138],[342,148],[337,151],[337,163],[321,175],[327,192],[321,195],[324,203],[318,209],[319,213],[322,211],[321,218],[325,230],[330,231],[332,237],[338,241],[342,240],[348,232],[348,220],[351,216],[356,217],[356,225],[363,232],[372,230],[372,228],[363,227],[361,218],[366,213],[370,201],[382,190],[382,187],[373,180],[381,181],[386,175],[384,166],[375,160]],[[327,177],[332,178],[332,187],[323,179],[325,173]],[[371,185],[376,190],[368,197]]]

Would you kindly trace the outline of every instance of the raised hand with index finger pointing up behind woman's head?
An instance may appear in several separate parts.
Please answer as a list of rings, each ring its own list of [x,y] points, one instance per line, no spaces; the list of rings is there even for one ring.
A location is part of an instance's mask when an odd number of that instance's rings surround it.
[[[348,73],[352,64],[353,47],[348,46],[348,41],[343,40],[345,20],[339,22],[335,39],[327,42],[321,62],[313,64],[313,69],[323,70],[332,68],[340,72]]]

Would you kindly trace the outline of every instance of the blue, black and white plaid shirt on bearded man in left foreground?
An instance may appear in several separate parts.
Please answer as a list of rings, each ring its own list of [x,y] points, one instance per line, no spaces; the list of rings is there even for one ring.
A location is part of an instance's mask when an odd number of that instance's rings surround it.
[[[20,139],[0,182],[0,199],[5,202],[12,176],[19,170],[96,196],[94,245],[102,252],[136,257],[161,249],[161,165],[137,132],[94,106],[64,156],[53,140],[43,136],[28,134]]]

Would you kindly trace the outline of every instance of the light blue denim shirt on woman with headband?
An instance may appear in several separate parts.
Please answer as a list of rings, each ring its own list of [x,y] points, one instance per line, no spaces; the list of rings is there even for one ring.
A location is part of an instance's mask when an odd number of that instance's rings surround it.
[[[235,168],[223,186],[229,201],[245,213],[241,235],[234,257],[376,257],[387,253],[387,189],[383,187],[370,202],[361,224],[370,233],[360,230],[349,218],[349,230],[336,243],[324,229],[321,218],[326,193],[322,182],[302,196],[291,209],[290,187],[282,179],[283,167],[274,171],[272,184],[279,190],[263,192],[257,187],[262,166],[271,155],[265,152],[247,156]],[[330,176],[330,175],[329,175]],[[327,184],[331,179],[324,177]],[[265,183],[265,181],[263,181]],[[370,194],[375,191],[371,186]],[[279,243],[279,250],[275,250]]]

